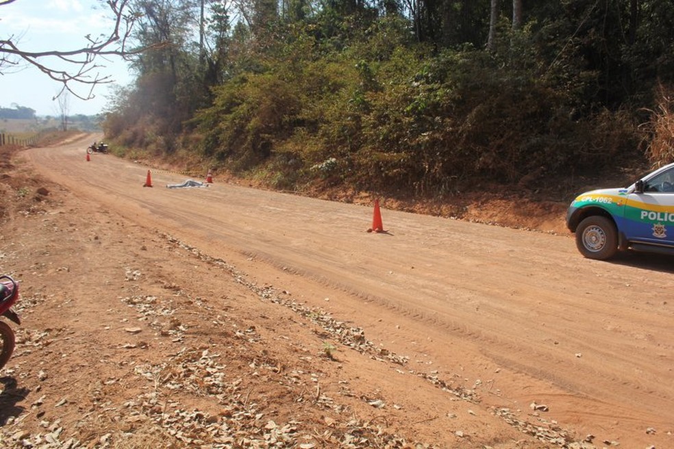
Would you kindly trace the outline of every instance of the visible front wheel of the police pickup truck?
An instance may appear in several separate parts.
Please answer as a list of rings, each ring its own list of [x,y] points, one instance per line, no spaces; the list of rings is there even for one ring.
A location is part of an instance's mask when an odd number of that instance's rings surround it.
[[[576,229],[578,251],[588,259],[610,259],[618,251],[616,226],[606,217],[592,215]]]

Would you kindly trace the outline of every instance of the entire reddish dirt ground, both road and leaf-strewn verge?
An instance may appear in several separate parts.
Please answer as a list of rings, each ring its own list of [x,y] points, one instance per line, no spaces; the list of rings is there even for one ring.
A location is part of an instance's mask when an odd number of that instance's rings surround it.
[[[89,140],[2,158],[0,447],[674,447],[671,259],[583,259],[556,203],[384,198],[367,233],[371,204],[143,188]]]

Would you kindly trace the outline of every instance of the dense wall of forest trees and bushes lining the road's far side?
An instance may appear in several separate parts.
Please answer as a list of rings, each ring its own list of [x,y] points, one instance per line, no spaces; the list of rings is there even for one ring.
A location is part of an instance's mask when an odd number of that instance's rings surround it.
[[[251,26],[215,11],[209,51],[190,46],[189,14],[167,11],[175,21],[148,27],[171,45],[139,60],[105,131],[151,153],[198,149],[282,189],[449,194],[597,170],[641,157],[638,109],[663,111],[653,85],[674,73],[671,2],[639,2],[641,15],[627,3],[532,0],[512,29],[501,2],[490,51],[486,0],[422,1],[424,17],[395,2],[251,3]]]

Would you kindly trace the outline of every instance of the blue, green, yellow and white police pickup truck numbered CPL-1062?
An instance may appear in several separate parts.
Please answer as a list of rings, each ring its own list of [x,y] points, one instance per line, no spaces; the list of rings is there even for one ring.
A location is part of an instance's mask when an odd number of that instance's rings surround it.
[[[566,227],[590,259],[609,259],[628,248],[674,255],[674,164],[628,188],[577,196],[566,212]]]

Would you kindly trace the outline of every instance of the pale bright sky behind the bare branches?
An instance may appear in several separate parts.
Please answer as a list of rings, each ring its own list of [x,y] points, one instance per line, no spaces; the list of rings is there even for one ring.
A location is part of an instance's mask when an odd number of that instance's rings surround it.
[[[23,51],[71,51],[87,46],[84,36],[109,34],[114,26],[109,10],[99,0],[15,0],[0,5],[0,40],[12,41]],[[0,55],[1,57],[1,55]],[[40,60],[55,66],[55,62]],[[99,77],[110,76],[116,86],[133,81],[121,58],[98,59]],[[61,68],[61,67],[60,67]],[[71,86],[80,96],[88,97],[90,87]],[[60,107],[53,100],[62,84],[53,81],[33,66],[0,66],[0,107],[30,107],[38,116],[58,116]],[[110,103],[114,90],[108,84],[96,86],[94,99],[66,98],[68,115],[99,114]]]

